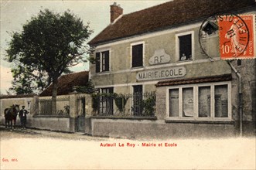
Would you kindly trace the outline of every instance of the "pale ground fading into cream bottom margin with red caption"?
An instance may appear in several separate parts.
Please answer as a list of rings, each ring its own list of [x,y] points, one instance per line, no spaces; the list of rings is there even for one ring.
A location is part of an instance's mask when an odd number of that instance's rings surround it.
[[[256,169],[255,138],[155,141],[0,130],[0,169]]]

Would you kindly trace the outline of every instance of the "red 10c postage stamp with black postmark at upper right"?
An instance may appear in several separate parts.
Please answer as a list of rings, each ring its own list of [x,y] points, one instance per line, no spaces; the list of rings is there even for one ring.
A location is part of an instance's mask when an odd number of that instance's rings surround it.
[[[255,58],[255,15],[220,15],[220,59]]]

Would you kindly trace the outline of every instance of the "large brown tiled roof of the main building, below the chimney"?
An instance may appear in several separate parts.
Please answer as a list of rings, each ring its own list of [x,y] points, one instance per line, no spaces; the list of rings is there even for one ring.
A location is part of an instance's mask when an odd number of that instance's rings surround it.
[[[256,8],[255,0],[174,0],[121,16],[89,44],[95,46],[103,42],[181,26],[210,15],[247,8]]]

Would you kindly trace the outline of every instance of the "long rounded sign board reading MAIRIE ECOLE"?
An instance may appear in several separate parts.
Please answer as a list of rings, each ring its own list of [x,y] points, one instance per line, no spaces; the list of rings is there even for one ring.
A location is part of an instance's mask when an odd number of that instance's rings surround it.
[[[138,72],[136,79],[144,80],[159,80],[159,79],[173,79],[183,77],[186,75],[186,68],[184,66],[171,67],[159,70],[147,70]]]

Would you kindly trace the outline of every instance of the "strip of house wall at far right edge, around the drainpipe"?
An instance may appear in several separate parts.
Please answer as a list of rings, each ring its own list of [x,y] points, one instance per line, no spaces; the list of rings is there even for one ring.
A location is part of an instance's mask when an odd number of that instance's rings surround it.
[[[248,135],[256,134],[256,59],[243,59],[241,65],[237,60],[231,62],[242,77],[242,107],[243,132]],[[232,113],[239,128],[239,96],[238,78],[232,73]]]

